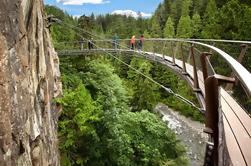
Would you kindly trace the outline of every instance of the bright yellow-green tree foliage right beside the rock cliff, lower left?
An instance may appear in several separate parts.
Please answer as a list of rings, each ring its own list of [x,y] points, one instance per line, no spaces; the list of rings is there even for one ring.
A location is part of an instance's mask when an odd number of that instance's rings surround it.
[[[83,151],[90,146],[85,141],[90,135],[96,137],[93,123],[100,120],[100,110],[81,84],[74,90],[65,90],[64,97],[57,103],[63,106],[58,123],[62,163],[84,162],[87,158]]]

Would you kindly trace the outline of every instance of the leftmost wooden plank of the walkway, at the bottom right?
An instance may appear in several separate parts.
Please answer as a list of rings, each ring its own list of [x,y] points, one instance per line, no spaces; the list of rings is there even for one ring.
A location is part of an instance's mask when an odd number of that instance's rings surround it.
[[[229,157],[233,166],[246,166],[245,160],[241,154],[239,145],[236,142],[234,134],[232,133],[231,127],[226,120],[226,117],[223,116],[223,127],[224,127],[224,136]]]

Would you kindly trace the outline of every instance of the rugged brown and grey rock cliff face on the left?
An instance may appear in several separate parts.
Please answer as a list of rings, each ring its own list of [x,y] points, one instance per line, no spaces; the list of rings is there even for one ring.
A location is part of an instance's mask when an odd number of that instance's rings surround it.
[[[42,0],[0,1],[0,165],[59,165],[59,61]]]

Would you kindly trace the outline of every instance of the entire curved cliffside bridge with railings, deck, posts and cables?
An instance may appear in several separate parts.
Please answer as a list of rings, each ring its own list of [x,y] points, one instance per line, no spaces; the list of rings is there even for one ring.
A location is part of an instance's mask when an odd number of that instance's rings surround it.
[[[68,25],[69,26],[69,25]],[[70,26],[71,27],[71,26]],[[71,27],[76,28],[76,27]],[[78,29],[84,31],[82,29]],[[98,37],[90,32],[90,36]],[[82,37],[82,36],[81,36]],[[90,41],[89,41],[90,42]],[[205,114],[205,129],[209,140],[205,147],[204,165],[251,165],[251,118],[242,101],[250,104],[251,74],[241,63],[248,54],[249,41],[206,39],[146,39],[143,49],[130,49],[129,40],[101,39],[91,41],[93,49],[87,48],[87,40],[57,43],[59,57],[107,54],[138,74],[140,71],[123,62],[117,54],[146,58],[165,65],[180,75],[193,89],[199,106],[161,85],[167,93]],[[227,46],[227,47],[226,47]],[[230,53],[224,51],[226,49]],[[224,71],[219,70],[223,68]],[[241,93],[241,99],[235,91]]]

